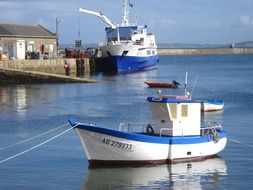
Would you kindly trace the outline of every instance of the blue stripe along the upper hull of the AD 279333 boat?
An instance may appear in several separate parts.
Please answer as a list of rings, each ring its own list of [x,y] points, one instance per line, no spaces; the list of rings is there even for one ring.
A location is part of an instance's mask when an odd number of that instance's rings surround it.
[[[140,142],[147,142],[147,143],[156,143],[156,144],[198,144],[198,143],[205,143],[211,141],[213,136],[177,136],[177,137],[159,137],[159,136],[147,136],[138,133],[127,133],[124,131],[118,131],[98,126],[86,125],[86,124],[79,124],[76,126],[78,129],[83,129],[91,132],[96,132],[100,134],[110,135],[118,138],[123,138],[126,140],[134,140]],[[218,132],[219,139],[225,138],[227,133],[223,130]]]

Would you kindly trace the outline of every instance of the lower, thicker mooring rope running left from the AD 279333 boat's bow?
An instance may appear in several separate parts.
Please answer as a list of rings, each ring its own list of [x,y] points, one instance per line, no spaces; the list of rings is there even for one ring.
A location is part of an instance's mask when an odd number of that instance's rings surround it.
[[[53,136],[52,138],[50,138],[50,139],[48,139],[48,140],[46,140],[46,141],[44,141],[44,142],[42,142],[42,143],[40,143],[40,144],[37,144],[37,145],[35,145],[35,146],[31,147],[31,148],[28,148],[28,149],[24,150],[23,152],[20,152],[20,153],[18,153],[18,154],[15,154],[15,155],[13,155],[13,156],[10,156],[10,157],[8,157],[8,158],[6,158],[6,159],[1,160],[1,161],[0,161],[0,164],[3,164],[4,162],[7,162],[7,161],[12,160],[12,159],[14,159],[14,158],[17,158],[17,157],[19,157],[19,156],[21,156],[21,155],[23,155],[23,154],[25,154],[25,153],[27,153],[27,152],[30,152],[30,151],[32,151],[32,150],[34,150],[34,149],[36,149],[36,148],[38,148],[38,147],[40,147],[40,146],[42,146],[42,145],[44,145],[44,144],[46,144],[46,143],[52,141],[52,140],[54,140],[54,139],[56,139],[56,138],[62,136],[63,134],[65,134],[65,133],[69,132],[70,130],[72,130],[73,128],[75,128],[77,125],[78,125],[78,124],[76,124],[75,126],[72,126],[71,128],[69,128],[69,129],[67,129],[67,130],[65,130],[65,131],[63,131],[63,132],[61,132],[61,133],[59,133],[58,135]]]

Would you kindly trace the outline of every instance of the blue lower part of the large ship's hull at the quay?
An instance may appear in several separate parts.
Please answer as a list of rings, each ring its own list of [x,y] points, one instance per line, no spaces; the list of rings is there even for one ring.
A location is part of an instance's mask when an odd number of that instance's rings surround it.
[[[159,62],[158,55],[136,56],[110,56],[99,61],[101,70],[112,72],[142,71],[154,67]]]

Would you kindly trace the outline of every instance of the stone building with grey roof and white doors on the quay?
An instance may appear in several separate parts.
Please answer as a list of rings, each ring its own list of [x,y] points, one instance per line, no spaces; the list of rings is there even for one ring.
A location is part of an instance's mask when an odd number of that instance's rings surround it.
[[[41,25],[0,24],[0,60],[50,58],[57,49],[56,34]]]

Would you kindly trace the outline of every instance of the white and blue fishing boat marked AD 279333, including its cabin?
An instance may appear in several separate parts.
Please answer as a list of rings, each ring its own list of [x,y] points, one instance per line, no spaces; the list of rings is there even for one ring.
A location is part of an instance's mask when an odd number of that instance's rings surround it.
[[[119,129],[69,120],[91,166],[174,163],[212,157],[227,143],[217,122],[201,124],[201,103],[148,97],[153,124],[120,124]]]

